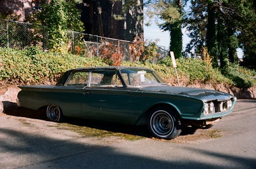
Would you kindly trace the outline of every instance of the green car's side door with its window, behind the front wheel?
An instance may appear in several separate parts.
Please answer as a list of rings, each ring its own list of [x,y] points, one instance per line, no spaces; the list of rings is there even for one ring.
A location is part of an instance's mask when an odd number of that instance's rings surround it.
[[[88,118],[130,123],[130,94],[116,70],[92,70],[83,93],[83,110]]]

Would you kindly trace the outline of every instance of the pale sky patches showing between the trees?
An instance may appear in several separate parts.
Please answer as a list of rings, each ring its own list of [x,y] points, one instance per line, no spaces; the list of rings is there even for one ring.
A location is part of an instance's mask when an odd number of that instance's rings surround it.
[[[182,30],[183,37],[182,37],[182,47],[183,50],[186,48],[186,44],[189,43],[190,38],[186,35],[186,30]],[[169,48],[169,43],[170,43],[170,37],[169,37],[169,32],[167,31],[162,31],[160,28],[152,22],[150,26],[144,25],[144,40],[146,41],[155,41],[156,39],[159,39],[157,42],[157,45],[159,46],[164,46],[166,50]],[[238,50],[238,58],[243,57],[243,52],[239,48]]]

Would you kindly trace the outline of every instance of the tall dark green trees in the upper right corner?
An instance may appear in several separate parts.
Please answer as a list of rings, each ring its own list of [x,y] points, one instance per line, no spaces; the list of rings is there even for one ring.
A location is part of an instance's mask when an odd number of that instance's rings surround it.
[[[184,21],[190,43],[186,51],[207,46],[212,65],[223,68],[237,63],[237,48],[244,51],[244,66],[255,69],[255,1],[191,1]]]

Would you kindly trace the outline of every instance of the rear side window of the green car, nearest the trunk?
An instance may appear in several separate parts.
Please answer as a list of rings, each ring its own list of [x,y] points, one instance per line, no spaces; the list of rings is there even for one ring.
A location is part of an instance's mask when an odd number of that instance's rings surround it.
[[[89,72],[75,72],[69,79],[68,86],[87,86]]]

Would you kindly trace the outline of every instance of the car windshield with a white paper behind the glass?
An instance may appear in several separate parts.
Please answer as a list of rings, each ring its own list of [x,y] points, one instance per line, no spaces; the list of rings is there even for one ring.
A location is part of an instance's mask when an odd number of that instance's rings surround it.
[[[143,87],[143,86],[159,86],[165,82],[152,70],[142,68],[125,68],[120,73],[127,86]]]

